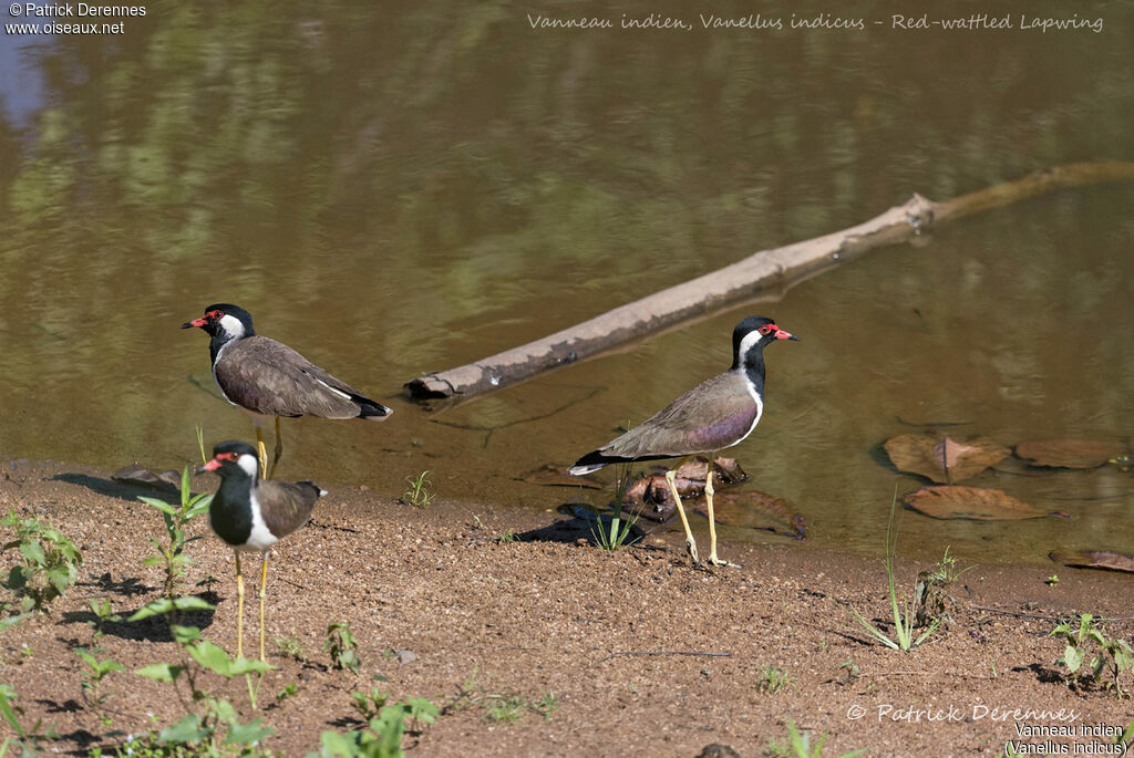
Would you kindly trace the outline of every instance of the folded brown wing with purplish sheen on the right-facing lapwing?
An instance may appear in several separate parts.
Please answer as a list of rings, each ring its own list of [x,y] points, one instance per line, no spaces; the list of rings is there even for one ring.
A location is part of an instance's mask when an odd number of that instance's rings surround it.
[[[625,458],[712,452],[744,438],[758,414],[744,375],[728,372],[705,380],[599,452]]]

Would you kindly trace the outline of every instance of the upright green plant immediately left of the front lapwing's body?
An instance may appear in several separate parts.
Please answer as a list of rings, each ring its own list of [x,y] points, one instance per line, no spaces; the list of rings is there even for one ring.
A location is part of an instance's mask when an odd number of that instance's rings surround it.
[[[189,491],[189,469],[181,469],[181,502],[178,505],[167,503],[156,497],[138,497],[143,503],[156,508],[161,512],[162,521],[166,525],[166,543],[153,538],[150,543],[158,550],[156,555],[151,555],[143,563],[145,565],[161,565],[166,571],[163,587],[164,597],[147,604],[128,621],[141,621],[154,615],[166,615],[170,623],[176,623],[178,612],[192,610],[211,610],[213,606],[200,597],[181,597],[178,591],[178,580],[185,576],[185,569],[193,560],[186,555],[185,546],[192,542],[201,539],[204,535],[194,537],[185,536],[185,527],[189,521],[209,510],[212,502],[212,494],[200,493],[194,495]]]

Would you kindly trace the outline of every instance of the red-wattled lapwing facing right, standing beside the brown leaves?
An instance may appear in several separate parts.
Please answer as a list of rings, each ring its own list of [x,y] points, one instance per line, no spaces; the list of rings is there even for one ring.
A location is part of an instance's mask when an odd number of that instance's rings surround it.
[[[730,448],[752,434],[764,410],[764,348],[776,340],[798,340],[771,318],[748,316],[733,330],[733,367],[705,380],[663,410],[642,421],[617,440],[583,455],[570,467],[573,476],[596,471],[611,463],[682,458],[709,453],[705,501],[709,508],[709,563],[728,564],[717,557],[717,525],[712,510],[712,470],[717,451]],[[694,564],[697,544],[689,530],[682,496],[674,477],[678,466],[666,471],[666,482],[685,527],[685,545]],[[733,565],[733,564],[729,564]]]

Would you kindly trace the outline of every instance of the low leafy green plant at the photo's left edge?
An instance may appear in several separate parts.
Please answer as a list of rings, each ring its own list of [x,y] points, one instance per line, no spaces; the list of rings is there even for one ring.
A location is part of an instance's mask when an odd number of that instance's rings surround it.
[[[16,538],[3,544],[0,553],[15,547],[22,563],[11,568],[3,586],[23,596],[19,613],[3,620],[2,629],[12,625],[31,611],[44,611],[48,604],[62,595],[78,578],[83,562],[75,544],[60,531],[36,519],[22,519],[16,511],[0,519],[0,527],[16,533]],[[3,604],[7,610],[7,603]]]

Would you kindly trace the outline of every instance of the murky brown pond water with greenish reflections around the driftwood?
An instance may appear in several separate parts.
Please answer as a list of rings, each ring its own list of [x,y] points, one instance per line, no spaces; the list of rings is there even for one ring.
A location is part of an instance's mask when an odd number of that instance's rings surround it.
[[[2,455],[166,467],[196,454],[194,424],[247,438],[206,341],[178,330],[217,301],[396,408],[383,425],[285,421],[282,476],[390,495],[429,469],[469,503],[594,499],[516,477],[726,367],[750,312],[804,341],[769,350],[767,412],[735,452],[820,544],[877,552],[895,480],[915,486],[877,445],[912,425],[1008,444],[1129,434],[1129,186],[965,221],[437,414],[400,391],[913,190],[1128,157],[1118,34],[756,43],[533,31],[503,2],[147,9],[120,37],[42,41],[43,108],[26,130],[0,122]],[[1132,15],[1106,12],[1108,29]],[[1129,476],[990,474],[978,484],[1070,526],[907,514],[903,545],[1129,551]]]

